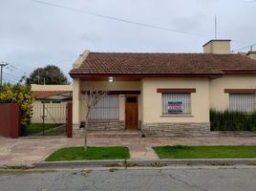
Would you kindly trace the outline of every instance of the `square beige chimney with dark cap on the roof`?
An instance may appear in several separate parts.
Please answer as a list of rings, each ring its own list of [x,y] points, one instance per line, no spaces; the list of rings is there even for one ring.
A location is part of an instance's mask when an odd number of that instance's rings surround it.
[[[214,39],[203,45],[203,53],[230,53],[230,41],[228,39]]]

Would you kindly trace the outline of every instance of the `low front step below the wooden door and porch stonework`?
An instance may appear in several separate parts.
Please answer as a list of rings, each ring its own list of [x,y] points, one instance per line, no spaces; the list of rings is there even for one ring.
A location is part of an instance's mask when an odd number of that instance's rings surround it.
[[[140,131],[90,131],[88,137],[91,138],[141,138]]]

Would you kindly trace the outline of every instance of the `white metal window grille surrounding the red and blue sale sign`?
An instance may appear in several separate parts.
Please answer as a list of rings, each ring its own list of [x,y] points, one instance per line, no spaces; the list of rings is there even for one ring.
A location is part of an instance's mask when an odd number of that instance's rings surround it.
[[[181,115],[191,114],[191,95],[190,94],[162,94],[162,114],[172,115],[168,111],[169,102],[180,102],[181,103]]]

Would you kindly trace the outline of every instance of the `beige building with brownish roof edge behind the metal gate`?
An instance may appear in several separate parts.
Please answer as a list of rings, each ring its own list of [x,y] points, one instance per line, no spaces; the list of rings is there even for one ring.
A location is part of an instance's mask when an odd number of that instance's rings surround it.
[[[32,122],[65,123],[66,104],[72,101],[72,85],[32,84]]]

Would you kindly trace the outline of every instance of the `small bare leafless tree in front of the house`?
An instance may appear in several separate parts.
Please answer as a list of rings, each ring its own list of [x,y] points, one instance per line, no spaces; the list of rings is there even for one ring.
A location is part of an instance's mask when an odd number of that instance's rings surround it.
[[[84,151],[87,151],[87,131],[89,126],[89,116],[96,103],[108,94],[107,91],[99,91],[95,87],[83,92],[86,103],[85,125],[84,125]]]

